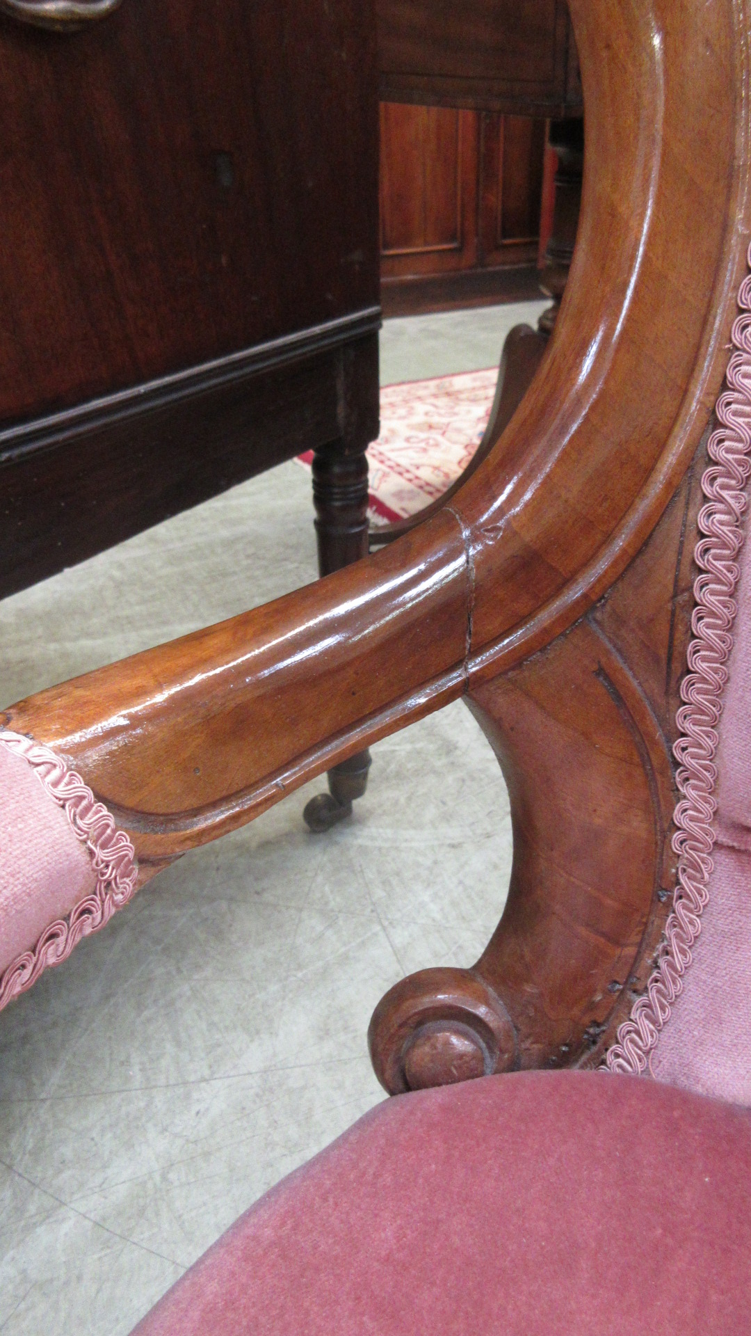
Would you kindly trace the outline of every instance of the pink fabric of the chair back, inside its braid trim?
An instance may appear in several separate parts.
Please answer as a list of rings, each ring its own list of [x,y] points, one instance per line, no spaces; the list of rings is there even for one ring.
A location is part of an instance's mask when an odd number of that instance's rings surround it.
[[[716,842],[708,903],[683,993],[652,1071],[751,1105],[751,542],[740,554],[738,616],[718,745]]]

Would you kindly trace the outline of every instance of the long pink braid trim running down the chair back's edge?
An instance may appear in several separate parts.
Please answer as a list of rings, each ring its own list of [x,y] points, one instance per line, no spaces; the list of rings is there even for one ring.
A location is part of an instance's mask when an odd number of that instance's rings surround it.
[[[748,265],[751,267],[751,247]],[[702,911],[708,900],[715,844],[712,820],[718,806],[718,723],[732,647],[736,558],[743,542],[744,492],[751,473],[751,277],[740,285],[738,305],[744,314],[732,326],[735,351],[727,369],[727,389],[715,410],[720,426],[708,444],[710,458],[715,462],[707,466],[702,478],[707,504],[699,512],[699,530],[704,537],[695,550],[700,574],[694,584],[696,607],[691,620],[690,671],[680,687],[684,704],[676,716],[680,736],[673,755],[679,763],[676,784],[682,796],[673,814],[672,847],[679,856],[678,886],[647,991],[635,1002],[629,1019],[619,1027],[617,1043],[605,1057],[611,1071],[637,1074],[649,1065],[649,1054],[683,990],[683,975],[691,965],[691,947],[702,931]]]

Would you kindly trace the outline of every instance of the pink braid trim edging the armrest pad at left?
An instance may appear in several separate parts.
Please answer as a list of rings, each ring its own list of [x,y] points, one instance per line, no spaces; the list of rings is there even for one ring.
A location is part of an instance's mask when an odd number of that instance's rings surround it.
[[[115,910],[127,904],[135,891],[138,864],[128,836],[119,831],[103,803],[98,803],[91,788],[75,770],[43,743],[0,729],[0,743],[23,756],[33,768],[49,796],[63,807],[71,827],[86,844],[96,886],[73,906],[65,919],[57,919],[44,930],[33,951],[24,951],[0,977],[0,1011],[31,989],[39,975],[51,965],[67,959],[82,937],[96,933],[112,918]]]

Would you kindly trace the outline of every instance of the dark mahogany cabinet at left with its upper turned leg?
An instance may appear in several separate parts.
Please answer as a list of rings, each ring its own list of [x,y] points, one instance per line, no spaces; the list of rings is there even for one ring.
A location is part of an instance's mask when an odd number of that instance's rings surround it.
[[[0,596],[311,446],[325,565],[359,556],[370,5],[3,16],[0,61]]]

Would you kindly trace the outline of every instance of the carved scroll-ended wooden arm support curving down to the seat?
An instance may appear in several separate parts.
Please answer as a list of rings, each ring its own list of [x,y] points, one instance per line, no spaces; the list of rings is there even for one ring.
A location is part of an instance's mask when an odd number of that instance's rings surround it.
[[[405,1034],[429,1045],[434,1085],[592,1065],[645,986],[675,888],[671,747],[703,460],[702,445],[655,533],[587,617],[518,668],[470,685],[469,708],[509,788],[509,896],[480,961],[450,971],[450,998],[445,971],[424,970],[377,1007],[370,1047],[392,1093],[410,1086]],[[478,986],[516,1037],[492,1061],[473,1015]],[[457,1021],[474,1051],[465,1038],[458,1053]]]

